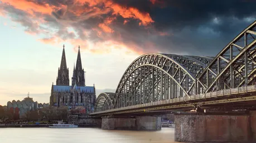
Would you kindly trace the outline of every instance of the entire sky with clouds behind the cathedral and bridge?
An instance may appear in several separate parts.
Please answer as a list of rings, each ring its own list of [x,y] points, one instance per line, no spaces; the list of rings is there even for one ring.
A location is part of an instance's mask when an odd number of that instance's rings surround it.
[[[49,103],[62,45],[71,79],[80,45],[85,84],[114,92],[146,53],[215,56],[256,20],[256,1],[0,0],[0,105]],[[70,80],[71,82],[71,80]],[[71,84],[71,83],[70,83]]]

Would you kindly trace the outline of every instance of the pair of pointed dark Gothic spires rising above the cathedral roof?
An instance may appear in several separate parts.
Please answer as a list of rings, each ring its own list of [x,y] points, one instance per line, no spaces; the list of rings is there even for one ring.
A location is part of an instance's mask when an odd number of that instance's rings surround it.
[[[82,68],[80,46],[78,47],[78,58],[76,59],[76,67],[74,64],[72,86],[85,86],[84,69]],[[56,85],[69,85],[69,68],[66,65],[65,45],[63,45],[62,57]]]

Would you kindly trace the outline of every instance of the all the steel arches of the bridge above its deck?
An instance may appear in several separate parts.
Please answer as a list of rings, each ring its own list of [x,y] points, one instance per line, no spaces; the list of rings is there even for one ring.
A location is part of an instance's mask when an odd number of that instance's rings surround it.
[[[175,99],[206,98],[207,93],[255,84],[256,21],[216,57],[144,54],[125,70],[115,93],[102,93],[95,113]],[[207,94],[208,96],[208,94]],[[152,105],[152,104],[151,104]]]

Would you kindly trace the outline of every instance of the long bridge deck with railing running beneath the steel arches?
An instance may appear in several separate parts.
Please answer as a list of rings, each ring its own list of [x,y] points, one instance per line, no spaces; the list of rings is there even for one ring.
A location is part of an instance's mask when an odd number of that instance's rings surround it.
[[[239,95],[239,96],[238,96]],[[225,89],[205,94],[197,94],[192,96],[184,96],[182,98],[174,98],[169,100],[155,101],[152,103],[127,106],[123,108],[99,111],[90,115],[109,115],[109,114],[125,114],[136,113],[159,109],[189,109],[195,104],[211,105],[221,103],[235,103],[239,101],[256,100],[256,85],[243,86],[234,89]],[[223,99],[225,98],[225,99]]]

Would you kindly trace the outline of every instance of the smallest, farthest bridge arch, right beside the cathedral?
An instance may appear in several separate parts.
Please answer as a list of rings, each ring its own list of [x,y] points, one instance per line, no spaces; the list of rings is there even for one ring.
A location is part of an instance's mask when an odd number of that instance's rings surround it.
[[[113,109],[115,93],[100,93],[94,106],[95,112]]]

